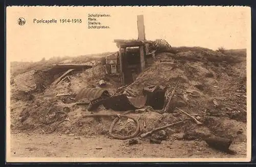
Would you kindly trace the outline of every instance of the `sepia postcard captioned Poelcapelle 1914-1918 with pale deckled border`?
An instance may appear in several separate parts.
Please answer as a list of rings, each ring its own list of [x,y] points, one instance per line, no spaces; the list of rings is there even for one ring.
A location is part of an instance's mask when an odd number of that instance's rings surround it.
[[[7,162],[248,162],[251,10],[6,7]]]

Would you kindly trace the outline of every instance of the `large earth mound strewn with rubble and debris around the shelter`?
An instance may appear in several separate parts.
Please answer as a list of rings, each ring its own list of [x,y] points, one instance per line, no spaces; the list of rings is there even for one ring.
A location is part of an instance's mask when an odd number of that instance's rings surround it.
[[[246,58],[205,48],[173,49],[177,53],[158,52],[154,63],[122,87],[118,77],[105,75],[102,65],[65,74],[54,85],[64,72],[44,75],[48,79],[37,71],[19,74],[12,81],[12,91],[33,98],[13,101],[11,128],[119,139],[135,135],[157,144],[216,140],[229,147],[229,141],[218,137],[245,142]],[[39,93],[35,92],[38,78],[45,78]],[[89,99],[90,89],[107,90],[108,96]]]

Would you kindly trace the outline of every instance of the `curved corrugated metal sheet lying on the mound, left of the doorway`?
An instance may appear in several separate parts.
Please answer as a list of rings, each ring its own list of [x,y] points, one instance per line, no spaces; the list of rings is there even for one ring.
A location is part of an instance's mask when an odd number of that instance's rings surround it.
[[[99,97],[110,97],[110,94],[107,90],[98,89],[98,88],[82,88],[76,94],[75,100],[80,100],[82,98],[87,99],[97,99]]]

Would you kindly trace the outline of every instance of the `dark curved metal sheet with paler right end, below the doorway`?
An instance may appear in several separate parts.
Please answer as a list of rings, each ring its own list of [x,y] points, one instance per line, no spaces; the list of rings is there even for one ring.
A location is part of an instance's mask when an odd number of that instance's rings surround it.
[[[144,96],[127,97],[125,94],[121,94],[105,99],[103,105],[106,109],[126,111],[141,108],[145,105],[145,102],[146,98]]]

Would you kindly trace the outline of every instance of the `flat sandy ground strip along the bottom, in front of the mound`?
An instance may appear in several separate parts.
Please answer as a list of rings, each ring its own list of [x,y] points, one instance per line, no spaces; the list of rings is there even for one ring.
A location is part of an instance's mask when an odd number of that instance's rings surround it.
[[[79,139],[77,139],[79,138]],[[229,155],[209,148],[204,141],[162,141],[151,144],[147,139],[139,144],[114,140],[108,136],[68,136],[63,134],[12,133],[12,157],[90,157],[90,158],[243,158],[246,143],[233,143]]]

